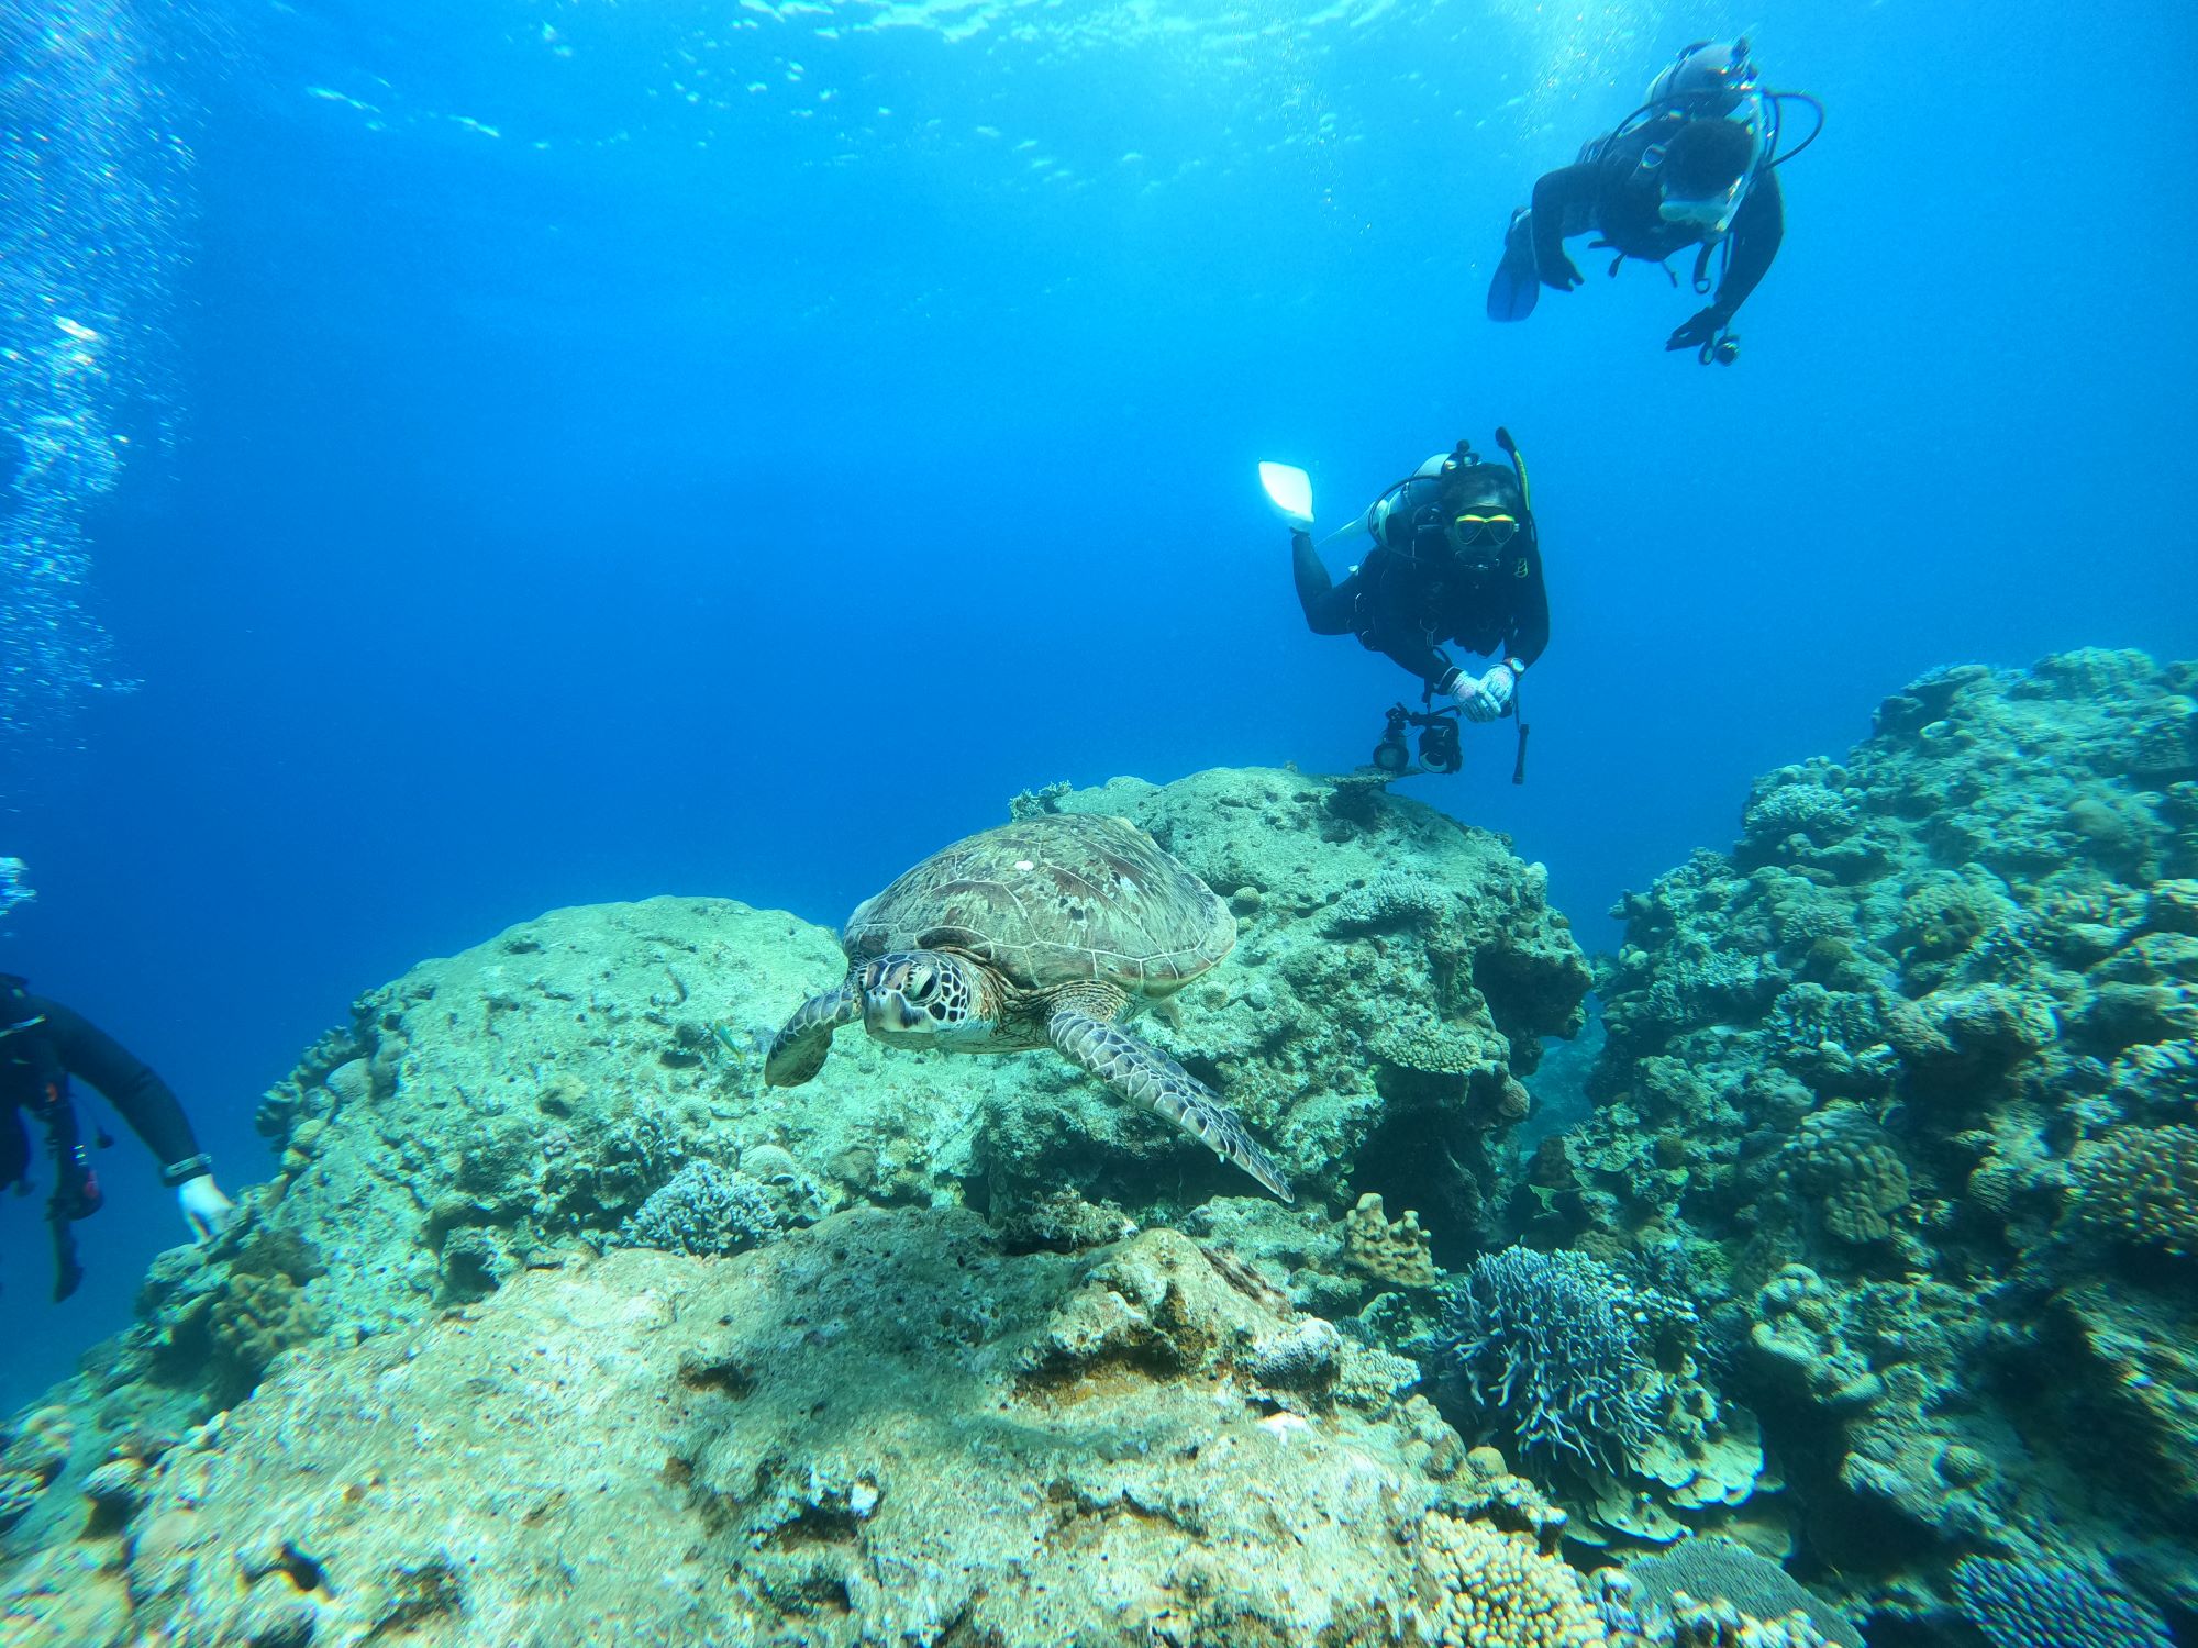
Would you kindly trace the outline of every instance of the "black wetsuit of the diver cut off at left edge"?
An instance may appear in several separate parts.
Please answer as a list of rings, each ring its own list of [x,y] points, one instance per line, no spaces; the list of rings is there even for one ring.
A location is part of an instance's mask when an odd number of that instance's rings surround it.
[[[31,1171],[24,1116],[46,1114],[53,1088],[66,1103],[70,1077],[106,1094],[160,1162],[163,1182],[207,1171],[189,1116],[143,1059],[81,1013],[0,978],[0,1189]]]

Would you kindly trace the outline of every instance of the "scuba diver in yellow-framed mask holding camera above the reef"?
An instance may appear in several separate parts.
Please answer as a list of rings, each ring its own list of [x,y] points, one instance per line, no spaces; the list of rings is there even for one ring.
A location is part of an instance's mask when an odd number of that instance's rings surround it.
[[[1374,767],[1411,767],[1407,727],[1420,730],[1420,769],[1455,773],[1459,725],[1519,716],[1519,679],[1550,644],[1550,591],[1541,574],[1525,459],[1510,431],[1497,431],[1508,464],[1486,464],[1470,442],[1435,453],[1387,488],[1354,521],[1312,541],[1312,479],[1288,464],[1262,464],[1268,503],[1290,527],[1290,574],[1314,635],[1356,635],[1420,677],[1420,710],[1387,712]],[[1321,547],[1365,532],[1374,545],[1343,582],[1330,578]],[[1497,664],[1473,675],[1442,650],[1451,642]],[[1437,697],[1451,703],[1435,703]],[[1525,782],[1525,721],[1512,782]]]

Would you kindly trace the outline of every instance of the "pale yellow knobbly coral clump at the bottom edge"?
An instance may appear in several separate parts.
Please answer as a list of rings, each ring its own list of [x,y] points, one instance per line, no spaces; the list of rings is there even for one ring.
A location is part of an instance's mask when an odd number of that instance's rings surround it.
[[[1418,1575],[1444,1648],[1605,1648],[1587,1584],[1523,1534],[1420,1518]]]

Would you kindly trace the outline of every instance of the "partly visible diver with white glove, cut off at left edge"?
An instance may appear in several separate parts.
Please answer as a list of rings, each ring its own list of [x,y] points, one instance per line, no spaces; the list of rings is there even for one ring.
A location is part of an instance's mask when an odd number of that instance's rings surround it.
[[[31,1138],[22,1125],[31,1114],[46,1129],[46,1154],[53,1156],[46,1220],[53,1226],[57,1301],[84,1279],[70,1224],[97,1213],[106,1200],[77,1129],[70,1077],[99,1088],[145,1140],[193,1237],[207,1241],[231,1213],[229,1198],[213,1182],[213,1160],[198,1147],[169,1085],[81,1013],[33,995],[13,973],[0,973],[0,1189],[13,1184],[24,1195],[31,1189]],[[112,1140],[97,1134],[97,1143]]]

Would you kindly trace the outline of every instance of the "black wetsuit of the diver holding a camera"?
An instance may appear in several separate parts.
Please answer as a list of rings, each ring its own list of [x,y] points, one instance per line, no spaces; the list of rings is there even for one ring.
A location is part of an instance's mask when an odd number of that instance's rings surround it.
[[[1442,527],[1416,523],[1437,492],[1435,479],[1405,481],[1383,521],[1385,541],[1341,584],[1303,532],[1290,536],[1290,571],[1314,635],[1356,635],[1418,675],[1429,692],[1451,692],[1455,670],[1442,642],[1528,666],[1550,644],[1550,591],[1532,532],[1492,552],[1495,567],[1462,571]]]

